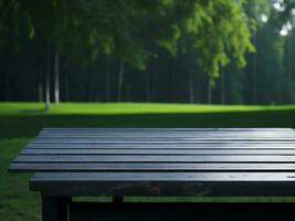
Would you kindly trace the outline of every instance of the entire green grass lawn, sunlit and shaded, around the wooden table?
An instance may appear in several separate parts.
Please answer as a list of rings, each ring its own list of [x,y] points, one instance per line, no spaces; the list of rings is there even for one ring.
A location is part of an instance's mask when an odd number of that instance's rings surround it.
[[[9,175],[17,154],[42,127],[293,127],[294,106],[182,104],[0,103],[0,218],[40,220],[40,198],[29,192],[31,175]],[[96,199],[95,199],[96,200]],[[144,200],[129,198],[128,200]],[[145,200],[159,200],[149,198]],[[295,201],[294,198],[173,198],[165,201]]]

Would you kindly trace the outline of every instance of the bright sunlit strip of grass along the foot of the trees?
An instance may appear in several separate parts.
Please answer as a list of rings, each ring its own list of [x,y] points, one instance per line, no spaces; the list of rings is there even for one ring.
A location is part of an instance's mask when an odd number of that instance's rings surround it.
[[[148,104],[148,103],[63,103],[51,105],[44,112],[44,104],[38,103],[0,103],[0,115],[112,115],[112,114],[173,114],[173,113],[224,113],[289,110],[294,105],[285,106],[245,106],[245,105],[190,105],[190,104]]]

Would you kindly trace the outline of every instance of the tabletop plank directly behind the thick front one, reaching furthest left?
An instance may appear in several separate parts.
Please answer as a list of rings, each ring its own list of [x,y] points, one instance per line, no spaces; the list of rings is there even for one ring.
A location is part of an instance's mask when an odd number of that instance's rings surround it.
[[[15,162],[9,171],[295,171],[295,164],[46,164]]]

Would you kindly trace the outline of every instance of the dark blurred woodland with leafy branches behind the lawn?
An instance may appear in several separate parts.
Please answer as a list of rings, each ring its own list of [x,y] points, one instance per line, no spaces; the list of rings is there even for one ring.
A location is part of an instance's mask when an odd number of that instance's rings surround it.
[[[0,0],[0,99],[293,103],[292,2],[274,3]]]

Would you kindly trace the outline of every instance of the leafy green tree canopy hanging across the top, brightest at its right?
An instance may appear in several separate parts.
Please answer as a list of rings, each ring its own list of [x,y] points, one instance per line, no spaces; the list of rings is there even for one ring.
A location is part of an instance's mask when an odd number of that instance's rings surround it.
[[[228,0],[1,0],[0,40],[40,31],[74,61],[87,63],[103,53],[145,70],[150,49],[158,45],[176,54],[189,36],[196,61],[211,80],[233,57],[245,65],[253,52],[251,21],[244,1]]]

